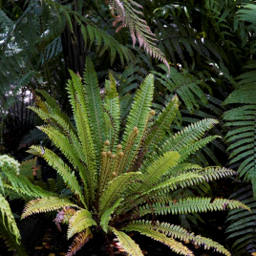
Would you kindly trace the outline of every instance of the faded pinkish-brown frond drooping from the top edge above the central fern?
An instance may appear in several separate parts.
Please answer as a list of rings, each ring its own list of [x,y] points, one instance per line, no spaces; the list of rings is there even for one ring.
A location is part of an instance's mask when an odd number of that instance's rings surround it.
[[[165,58],[164,54],[156,45],[156,36],[151,32],[149,26],[147,25],[144,19],[139,17],[143,15],[141,11],[138,11],[136,8],[142,9],[137,2],[133,0],[120,1],[120,0],[106,0],[111,7],[111,13],[115,18],[113,26],[117,27],[116,32],[119,32],[122,28],[129,27],[133,46],[135,46],[136,41],[139,41],[139,48],[143,46],[145,51],[149,53],[154,58],[160,59],[167,66],[168,71],[170,72],[170,66]]]

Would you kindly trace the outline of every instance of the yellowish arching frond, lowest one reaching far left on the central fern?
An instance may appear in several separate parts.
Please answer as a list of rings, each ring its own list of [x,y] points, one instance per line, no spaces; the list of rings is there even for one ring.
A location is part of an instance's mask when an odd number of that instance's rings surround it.
[[[26,217],[35,213],[57,210],[59,208],[63,208],[64,206],[72,206],[78,208],[77,204],[71,203],[68,199],[49,197],[44,199],[32,200],[25,205],[25,208],[21,215],[21,219],[25,219]]]

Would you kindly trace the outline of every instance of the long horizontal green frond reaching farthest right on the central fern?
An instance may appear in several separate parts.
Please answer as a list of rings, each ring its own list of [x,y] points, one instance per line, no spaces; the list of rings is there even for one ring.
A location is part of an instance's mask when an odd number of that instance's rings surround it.
[[[226,208],[235,209],[243,208],[250,210],[244,203],[227,199],[215,199],[211,203],[210,198],[187,198],[181,199],[179,202],[170,201],[169,203],[152,203],[139,206],[139,216],[148,213],[154,214],[186,214],[197,213],[214,210],[224,210]]]

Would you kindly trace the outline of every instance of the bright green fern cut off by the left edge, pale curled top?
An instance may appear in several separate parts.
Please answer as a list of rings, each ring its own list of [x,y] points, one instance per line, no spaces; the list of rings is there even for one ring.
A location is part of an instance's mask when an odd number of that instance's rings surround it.
[[[36,159],[21,164],[7,155],[0,156],[0,238],[5,240],[9,250],[19,256],[27,256],[11,207],[7,198],[31,200],[38,197],[53,196],[53,193],[32,184]]]

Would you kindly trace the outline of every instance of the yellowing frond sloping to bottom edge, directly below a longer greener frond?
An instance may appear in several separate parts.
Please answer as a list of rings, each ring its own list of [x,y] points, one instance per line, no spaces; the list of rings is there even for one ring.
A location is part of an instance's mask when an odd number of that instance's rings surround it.
[[[153,227],[153,226],[152,226]],[[127,228],[127,229],[126,229]],[[180,242],[175,241],[173,238],[167,237],[165,234],[155,231],[153,228],[147,228],[143,225],[128,225],[124,228],[125,230],[138,231],[140,234],[148,236],[156,241],[159,241],[163,245],[167,245],[171,250],[175,251],[177,254],[185,256],[193,256],[193,252],[188,249],[185,245],[182,245]]]

